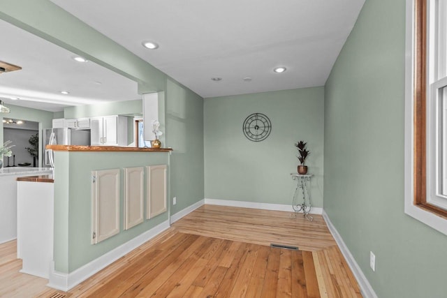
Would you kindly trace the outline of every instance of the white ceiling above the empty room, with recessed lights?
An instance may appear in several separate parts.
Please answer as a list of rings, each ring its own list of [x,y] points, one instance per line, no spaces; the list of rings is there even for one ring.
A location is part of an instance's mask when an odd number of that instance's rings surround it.
[[[200,96],[212,97],[323,86],[365,1],[52,2]],[[142,40],[160,47],[146,50]],[[272,72],[276,66],[288,69],[279,75]]]

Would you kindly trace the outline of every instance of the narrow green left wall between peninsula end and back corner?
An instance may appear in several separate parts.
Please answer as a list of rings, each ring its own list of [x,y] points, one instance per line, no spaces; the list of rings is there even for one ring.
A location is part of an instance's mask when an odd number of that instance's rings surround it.
[[[166,146],[171,156],[171,214],[203,200],[203,98],[168,80]]]

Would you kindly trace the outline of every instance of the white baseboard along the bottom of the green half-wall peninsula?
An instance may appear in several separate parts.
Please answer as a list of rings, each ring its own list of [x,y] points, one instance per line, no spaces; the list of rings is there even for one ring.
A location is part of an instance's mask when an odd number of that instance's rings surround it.
[[[169,221],[163,221],[163,223],[160,223],[154,228],[147,230],[137,237],[127,241],[125,244],[112,249],[112,251],[108,251],[104,255],[101,255],[101,257],[96,258],[95,260],[69,274],[54,271],[54,262],[52,262],[50,267],[50,282],[47,284],[47,286],[66,292],[76,285],[82,283],[82,281],[85,281],[90,276],[96,274],[96,272],[112,264],[112,262],[115,262],[119,258],[122,258],[122,256],[130,253],[138,246],[154,238],[156,235],[160,234],[164,230],[167,230],[169,227]]]

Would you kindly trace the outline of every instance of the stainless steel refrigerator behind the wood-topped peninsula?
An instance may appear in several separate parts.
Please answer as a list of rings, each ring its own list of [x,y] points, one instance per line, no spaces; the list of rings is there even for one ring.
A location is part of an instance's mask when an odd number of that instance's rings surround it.
[[[52,133],[54,133],[53,137],[51,137]],[[73,128],[46,128],[43,130],[42,138],[44,142],[42,156],[45,156],[42,161],[43,167],[54,167],[52,164],[54,153],[52,150],[45,149],[47,144],[90,145],[90,131],[82,131]]]

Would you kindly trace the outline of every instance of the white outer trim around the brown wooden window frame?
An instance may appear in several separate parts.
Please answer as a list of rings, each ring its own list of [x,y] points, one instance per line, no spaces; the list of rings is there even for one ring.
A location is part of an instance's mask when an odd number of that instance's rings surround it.
[[[413,204],[413,11],[413,0],[406,0],[404,211],[405,214],[447,235],[446,219]]]

